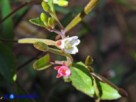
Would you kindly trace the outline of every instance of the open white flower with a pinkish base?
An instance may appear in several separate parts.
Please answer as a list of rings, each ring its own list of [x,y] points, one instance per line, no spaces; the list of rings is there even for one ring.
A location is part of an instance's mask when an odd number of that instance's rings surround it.
[[[80,40],[77,36],[67,37],[58,42],[58,47],[62,49],[65,53],[76,54],[78,52],[77,45]]]

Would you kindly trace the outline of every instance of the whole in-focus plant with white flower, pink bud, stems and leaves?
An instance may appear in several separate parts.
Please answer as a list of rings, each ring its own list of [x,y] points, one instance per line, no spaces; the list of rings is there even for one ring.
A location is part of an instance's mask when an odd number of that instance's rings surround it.
[[[56,78],[63,77],[65,82],[70,82],[77,90],[93,97],[96,102],[99,102],[100,100],[118,99],[121,96],[125,96],[126,93],[123,89],[118,88],[94,72],[90,66],[93,62],[90,56],[87,56],[85,62],[75,62],[71,54],[78,53],[78,45],[82,42],[80,42],[78,36],[66,35],[69,30],[76,26],[96,6],[97,2],[98,0],[91,0],[81,13],[66,27],[63,27],[56,15],[54,4],[67,6],[68,1],[43,0],[41,6],[44,12],[40,14],[39,18],[31,19],[30,22],[56,33],[60,36],[60,39],[55,41],[51,39],[23,38],[19,39],[18,43],[33,44],[40,51],[64,56],[66,60],[51,62],[50,55],[46,54],[34,62],[33,68],[35,70],[45,70],[54,65],[54,69],[58,73]],[[84,15],[81,16],[81,14]]]

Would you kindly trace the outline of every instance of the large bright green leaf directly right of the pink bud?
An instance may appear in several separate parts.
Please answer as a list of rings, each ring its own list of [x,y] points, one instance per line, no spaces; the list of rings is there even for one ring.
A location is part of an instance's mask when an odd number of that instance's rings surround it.
[[[94,97],[93,81],[85,67],[86,66],[82,62],[70,67],[72,71],[70,80],[72,81],[72,85],[77,90],[87,94],[90,97]]]

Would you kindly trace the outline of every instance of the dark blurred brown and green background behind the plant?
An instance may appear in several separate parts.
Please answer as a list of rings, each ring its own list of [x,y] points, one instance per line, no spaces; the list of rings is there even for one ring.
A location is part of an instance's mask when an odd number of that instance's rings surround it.
[[[56,6],[62,24],[66,26],[89,0],[69,0],[66,8]],[[31,2],[26,4],[25,2]],[[19,8],[20,7],[20,8]],[[3,19],[16,10],[8,19]],[[40,15],[40,0],[0,1],[0,95],[36,95],[35,99],[14,99],[11,102],[93,102],[71,84],[56,79],[51,67],[35,71],[32,62],[42,56],[32,45],[13,42],[19,38],[36,37],[55,39],[55,34],[30,24],[30,18]],[[115,101],[136,102],[136,0],[99,0],[94,10],[68,32],[81,40],[75,61],[93,57],[95,72],[124,88],[128,97]],[[52,58],[61,59],[52,55]],[[13,82],[13,75],[17,80]],[[9,99],[1,100],[10,102]]]

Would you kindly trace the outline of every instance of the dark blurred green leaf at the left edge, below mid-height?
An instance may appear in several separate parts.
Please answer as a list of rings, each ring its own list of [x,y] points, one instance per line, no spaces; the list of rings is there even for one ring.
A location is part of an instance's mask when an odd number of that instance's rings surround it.
[[[11,83],[15,73],[16,63],[11,49],[0,44],[0,74],[4,78],[3,81]]]

